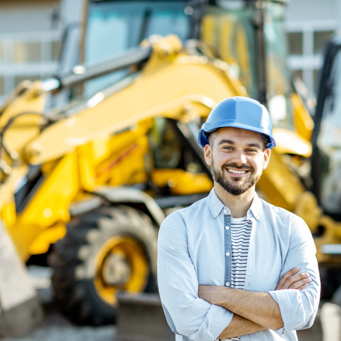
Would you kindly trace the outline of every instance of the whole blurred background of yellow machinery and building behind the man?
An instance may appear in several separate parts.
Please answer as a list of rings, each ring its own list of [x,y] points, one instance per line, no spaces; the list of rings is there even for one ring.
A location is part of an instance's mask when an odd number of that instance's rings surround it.
[[[257,192],[317,246],[298,338],[341,341],[340,28],[341,0],[0,0],[3,340],[174,340],[157,230],[212,188],[210,110],[248,95],[277,142]]]

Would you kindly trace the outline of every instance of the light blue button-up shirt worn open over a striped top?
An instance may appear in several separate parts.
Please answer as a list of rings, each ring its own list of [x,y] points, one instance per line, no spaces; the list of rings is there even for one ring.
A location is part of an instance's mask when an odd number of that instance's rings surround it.
[[[198,298],[198,284],[229,286],[230,211],[214,188],[207,198],[171,213],[158,236],[157,278],[162,305],[176,341],[214,341],[233,313]],[[255,194],[247,211],[252,222],[244,290],[268,292],[279,304],[284,328],[264,330],[241,341],[297,340],[297,329],[314,322],[320,300],[316,247],[300,217]],[[274,291],[295,266],[312,282],[302,291]]]

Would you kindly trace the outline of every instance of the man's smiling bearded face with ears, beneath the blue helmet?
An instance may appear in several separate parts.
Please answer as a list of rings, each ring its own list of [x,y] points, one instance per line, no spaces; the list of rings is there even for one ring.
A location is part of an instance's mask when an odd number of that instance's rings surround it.
[[[233,195],[245,193],[268,164],[270,150],[264,142],[260,133],[245,129],[225,127],[214,132],[204,149],[213,180]]]

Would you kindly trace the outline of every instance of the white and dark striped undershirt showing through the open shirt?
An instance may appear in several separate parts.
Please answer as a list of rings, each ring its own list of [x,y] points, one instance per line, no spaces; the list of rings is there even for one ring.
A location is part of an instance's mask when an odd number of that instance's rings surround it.
[[[232,242],[232,276],[231,288],[244,289],[248,245],[250,241],[252,223],[243,218],[231,218]],[[240,338],[223,340],[240,341]]]

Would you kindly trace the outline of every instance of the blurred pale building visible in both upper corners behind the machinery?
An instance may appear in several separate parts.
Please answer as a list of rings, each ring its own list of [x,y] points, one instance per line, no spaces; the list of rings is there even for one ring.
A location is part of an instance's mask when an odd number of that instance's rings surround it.
[[[0,1],[0,103],[22,80],[44,79],[57,70],[63,39],[62,5],[63,0]],[[287,3],[287,66],[314,95],[323,44],[341,27],[340,14],[337,0]]]

